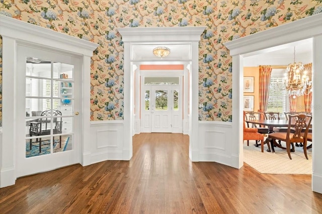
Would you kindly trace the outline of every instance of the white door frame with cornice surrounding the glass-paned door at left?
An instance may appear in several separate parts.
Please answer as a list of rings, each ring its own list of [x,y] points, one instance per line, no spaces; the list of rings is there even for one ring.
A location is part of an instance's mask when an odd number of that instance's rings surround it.
[[[91,87],[91,57],[99,46],[89,41],[81,40],[50,29],[0,15],[0,32],[3,38],[3,126],[0,187],[15,184],[17,175],[15,168],[16,133],[16,88],[17,84],[17,45],[28,45],[43,50],[53,50],[69,56],[81,58],[82,97],[81,109],[81,160],[82,165],[91,164],[90,134],[90,87]]]

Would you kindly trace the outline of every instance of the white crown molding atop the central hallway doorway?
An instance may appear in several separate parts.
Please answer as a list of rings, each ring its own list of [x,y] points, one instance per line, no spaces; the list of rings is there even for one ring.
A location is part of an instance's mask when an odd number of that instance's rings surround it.
[[[117,28],[123,42],[199,41],[206,27]],[[180,36],[179,36],[180,35]],[[152,38],[152,39],[151,39]]]

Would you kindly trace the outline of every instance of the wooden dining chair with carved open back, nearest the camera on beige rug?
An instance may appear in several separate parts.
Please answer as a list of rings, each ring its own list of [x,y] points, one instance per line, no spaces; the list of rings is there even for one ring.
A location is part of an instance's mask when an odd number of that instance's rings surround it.
[[[291,157],[291,144],[294,148],[294,143],[303,143],[303,150],[306,159],[306,144],[307,144],[307,133],[309,125],[311,124],[312,116],[308,114],[295,114],[289,115],[287,132],[273,132],[268,135],[268,138],[271,139],[271,146],[273,147],[273,140],[281,140],[286,143],[286,151],[288,157]],[[291,131],[293,130],[293,131]],[[305,130],[302,132],[302,130]]]

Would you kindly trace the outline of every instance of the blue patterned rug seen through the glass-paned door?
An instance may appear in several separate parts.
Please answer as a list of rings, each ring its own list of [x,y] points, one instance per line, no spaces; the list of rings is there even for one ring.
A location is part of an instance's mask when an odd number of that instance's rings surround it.
[[[57,153],[60,151],[65,151],[67,148],[67,144],[69,141],[69,137],[62,137],[61,138],[61,147],[59,148],[59,143],[58,140],[55,139],[53,143],[53,152]],[[26,157],[33,157],[33,156],[38,156],[38,155],[43,155],[43,154],[50,154],[50,141],[49,140],[44,140],[41,146],[41,153],[39,153],[39,143],[33,143],[32,144],[32,149],[30,150],[29,147],[29,140],[26,142]]]

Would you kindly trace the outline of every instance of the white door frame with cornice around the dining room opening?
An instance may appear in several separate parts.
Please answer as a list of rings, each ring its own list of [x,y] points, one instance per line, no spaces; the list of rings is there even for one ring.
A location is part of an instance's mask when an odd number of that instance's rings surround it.
[[[224,45],[232,56],[232,148],[238,154],[238,168],[244,164],[243,155],[243,60],[244,57],[282,49],[289,43],[313,38],[313,100],[312,100],[312,127],[313,142],[319,142],[322,132],[322,13],[304,19],[274,27],[256,34],[252,34]],[[322,193],[322,144],[315,143],[312,147],[312,190]]]

